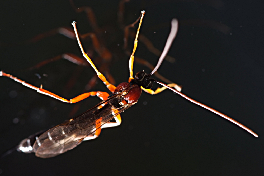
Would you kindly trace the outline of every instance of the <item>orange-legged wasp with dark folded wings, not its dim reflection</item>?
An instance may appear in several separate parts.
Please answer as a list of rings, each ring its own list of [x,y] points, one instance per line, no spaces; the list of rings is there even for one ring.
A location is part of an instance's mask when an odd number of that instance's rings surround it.
[[[150,74],[147,74],[144,71],[140,71],[136,73],[135,78],[133,77],[134,53],[137,48],[137,42],[138,42],[137,38],[138,38],[139,29],[142,24],[142,19],[144,17],[145,11],[142,11],[141,13],[142,14],[141,14],[140,22],[139,22],[139,27],[138,27],[135,41],[134,41],[133,52],[129,60],[130,77],[129,77],[128,83],[127,82],[120,83],[117,87],[110,84],[106,80],[103,74],[97,70],[97,68],[91,61],[91,59],[84,52],[84,49],[82,47],[82,44],[80,42],[80,39],[77,33],[76,22],[72,23],[79,47],[81,48],[84,58],[87,59],[89,64],[96,71],[98,77],[103,81],[106,87],[112,92],[111,95],[109,95],[106,92],[93,91],[93,92],[87,92],[87,93],[81,94],[73,99],[67,100],[54,93],[51,93],[43,89],[42,86],[38,88],[10,74],[7,74],[3,71],[0,72],[0,76],[11,78],[23,84],[24,86],[27,86],[31,89],[36,90],[39,93],[48,95],[50,97],[53,97],[55,99],[58,99],[66,103],[76,103],[89,96],[97,96],[103,100],[101,103],[97,104],[95,107],[89,109],[88,111],[82,113],[81,115],[78,115],[77,117],[69,119],[47,131],[36,133],[22,140],[17,147],[18,151],[22,151],[25,153],[35,153],[37,157],[41,157],[41,158],[50,158],[50,157],[54,157],[56,155],[62,154],[68,150],[75,148],[77,145],[79,145],[81,142],[85,140],[91,140],[91,139],[97,138],[100,135],[102,128],[114,127],[114,126],[120,125],[121,123],[120,113],[128,109],[129,107],[131,107],[138,101],[142,90],[144,90],[145,92],[149,94],[157,94],[167,88],[181,95],[187,100],[205,109],[208,109],[215,114],[218,114],[219,116],[229,120],[230,122],[233,122],[234,124],[245,129],[246,131],[248,131],[255,137],[258,137],[258,135],[255,132],[253,132],[251,129],[247,128],[243,124],[237,122],[236,120],[182,94],[180,92],[181,87],[178,86],[177,84],[172,83],[172,84],[166,85],[150,77],[152,74],[154,74],[157,71],[157,69],[161,65],[163,59],[165,58],[166,54],[169,51],[169,48],[171,47],[172,42],[174,41],[176,37],[177,31],[178,31],[177,19],[173,19],[171,22],[172,24],[171,32],[169,34],[169,37],[167,39],[163,52],[159,58],[159,61],[156,67],[153,69],[153,71]],[[153,82],[161,84],[163,87],[158,88],[157,90],[153,91],[151,90]],[[114,119],[115,122],[112,122],[112,121],[110,122],[110,120],[112,119]]]

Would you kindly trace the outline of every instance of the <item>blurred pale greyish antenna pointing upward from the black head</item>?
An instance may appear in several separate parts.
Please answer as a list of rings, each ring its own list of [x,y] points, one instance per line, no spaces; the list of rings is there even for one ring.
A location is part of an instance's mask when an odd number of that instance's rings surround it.
[[[161,53],[161,56],[159,57],[159,61],[156,65],[156,67],[150,73],[150,75],[155,73],[155,71],[157,71],[159,66],[161,66],[161,63],[162,63],[163,59],[165,58],[165,56],[167,55],[167,53],[169,52],[169,48],[171,47],[171,44],[172,44],[173,40],[175,39],[177,32],[178,32],[178,20],[176,18],[173,18],[171,21],[171,32],[169,33],[169,37],[167,39],[165,47]]]

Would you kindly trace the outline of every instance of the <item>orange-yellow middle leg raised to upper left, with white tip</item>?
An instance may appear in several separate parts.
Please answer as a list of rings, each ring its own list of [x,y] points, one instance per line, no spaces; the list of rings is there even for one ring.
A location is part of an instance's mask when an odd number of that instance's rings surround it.
[[[86,58],[86,60],[91,64],[91,66],[93,67],[93,69],[96,71],[98,77],[103,81],[103,83],[106,85],[106,87],[107,87],[111,92],[114,92],[116,87],[115,87],[114,85],[110,84],[110,83],[106,80],[105,76],[103,76],[103,74],[100,73],[100,72],[97,70],[97,68],[96,68],[95,65],[93,64],[92,60],[91,60],[91,59],[89,58],[89,56],[84,52],[83,47],[82,47],[82,44],[81,44],[81,41],[80,41],[80,39],[79,39],[79,37],[78,37],[77,28],[76,28],[76,22],[72,22],[72,25],[73,25],[73,27],[74,27],[74,31],[75,31],[75,34],[76,34],[76,38],[77,38],[78,44],[79,44],[79,46],[80,46],[80,48],[81,48],[81,51],[82,51],[82,53],[83,53],[84,58]]]

